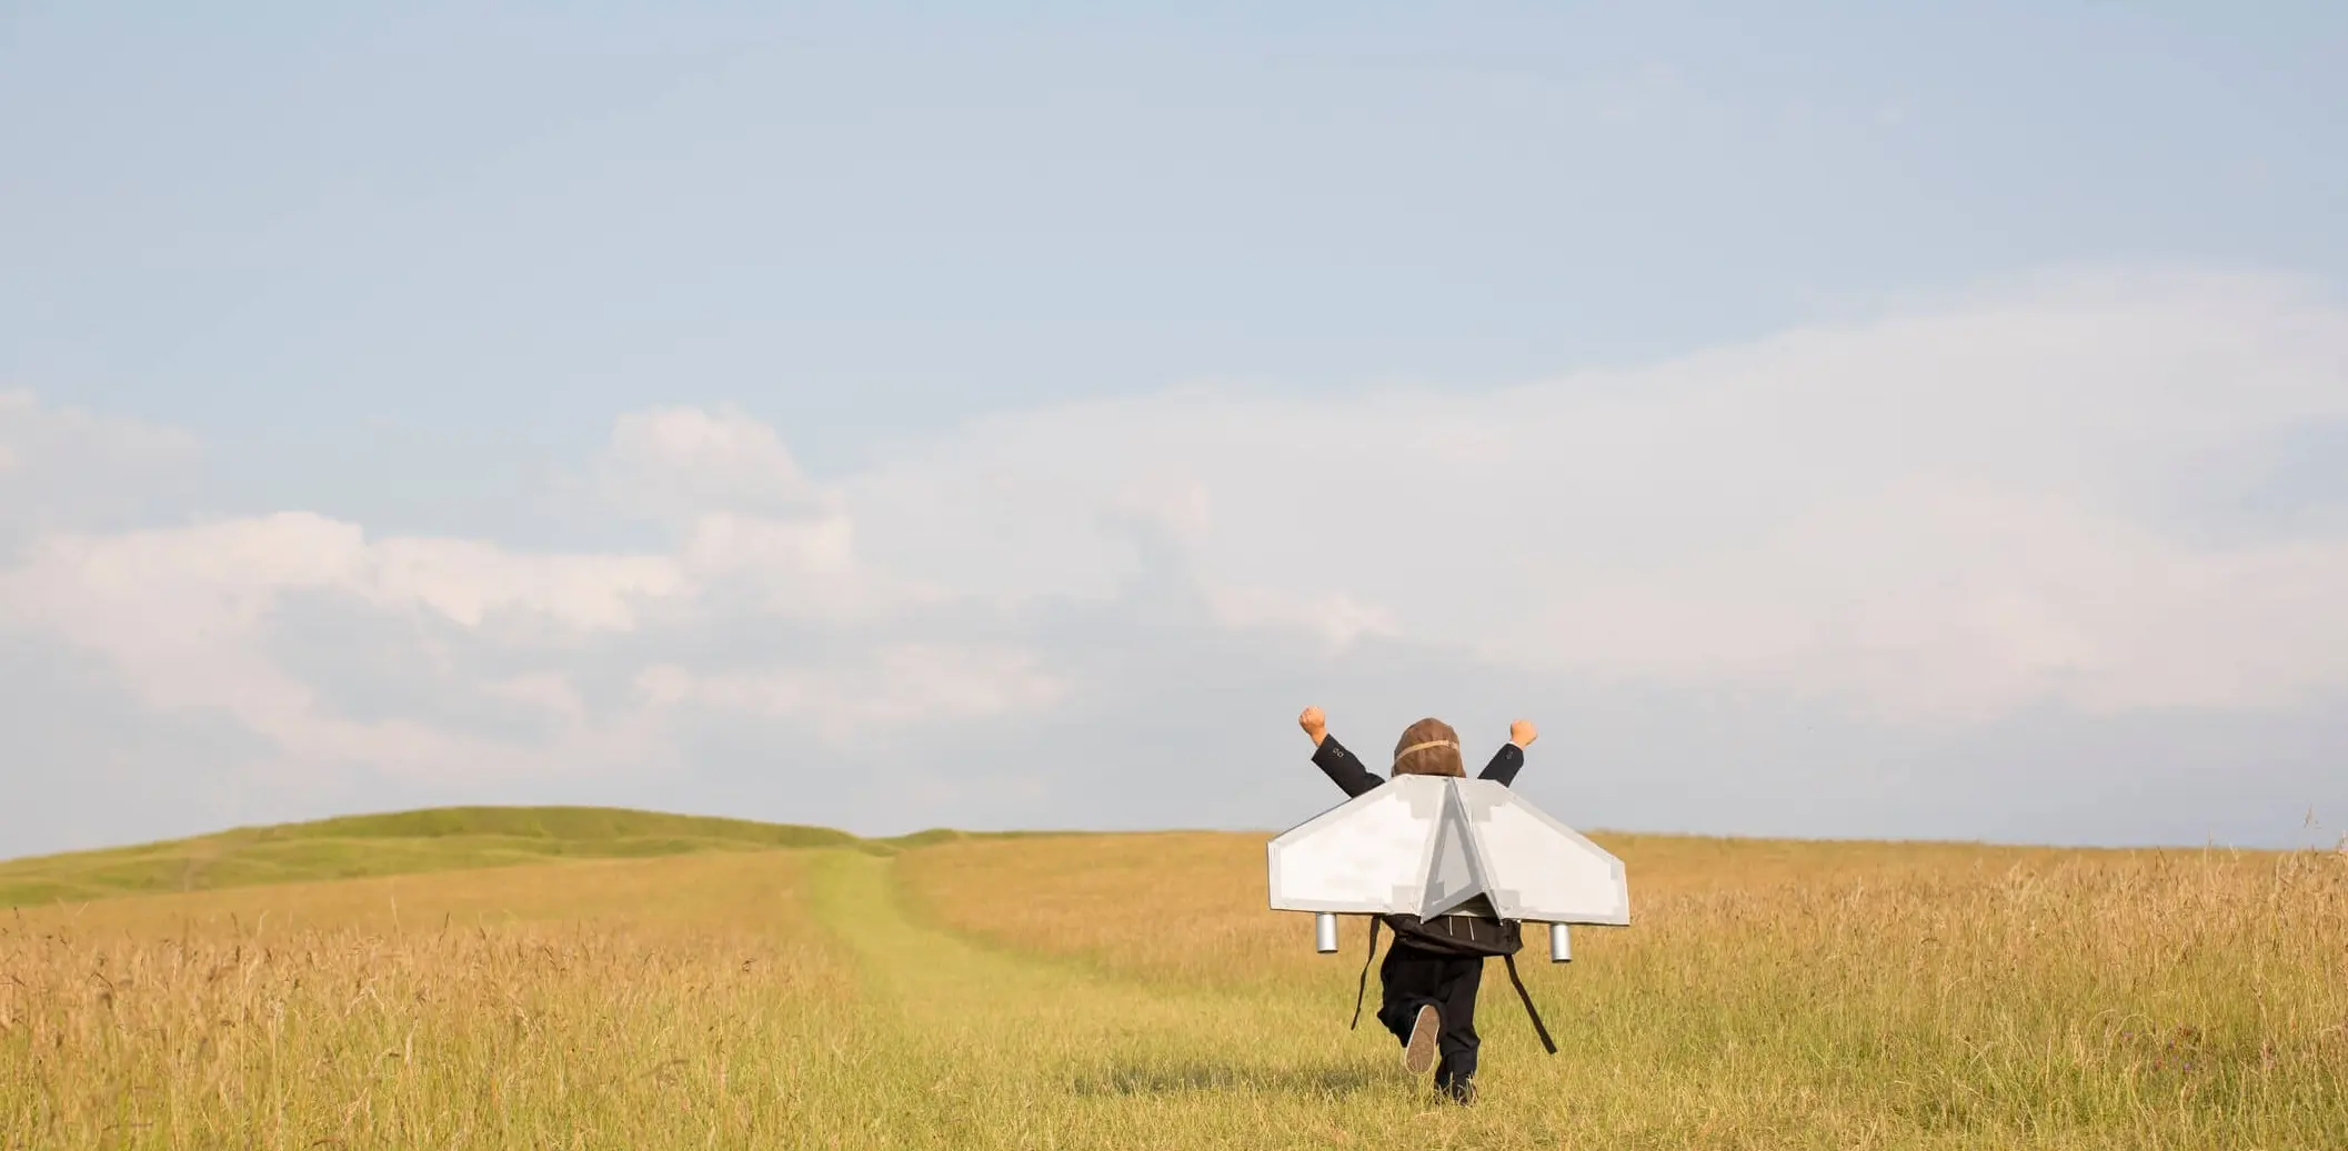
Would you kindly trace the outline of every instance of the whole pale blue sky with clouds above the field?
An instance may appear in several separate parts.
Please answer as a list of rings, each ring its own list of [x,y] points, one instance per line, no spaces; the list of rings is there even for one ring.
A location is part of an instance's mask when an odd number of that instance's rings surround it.
[[[0,2],[0,856],[2348,830],[2339,5]]]

